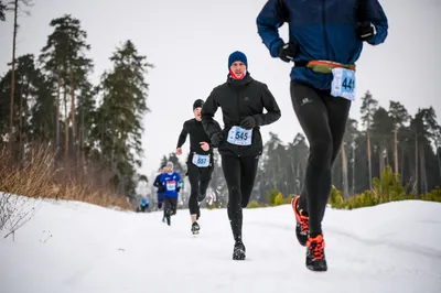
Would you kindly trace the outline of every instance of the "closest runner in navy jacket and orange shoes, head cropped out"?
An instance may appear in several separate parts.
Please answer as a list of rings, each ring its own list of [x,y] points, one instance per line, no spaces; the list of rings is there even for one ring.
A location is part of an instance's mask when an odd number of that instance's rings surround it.
[[[279,35],[284,23],[287,43]],[[292,200],[295,230],[306,246],[306,267],[326,271],[322,220],[356,95],[355,63],[365,43],[385,42],[388,20],[377,0],[268,0],[257,30],[272,57],[294,63],[291,100],[310,143],[305,188]]]

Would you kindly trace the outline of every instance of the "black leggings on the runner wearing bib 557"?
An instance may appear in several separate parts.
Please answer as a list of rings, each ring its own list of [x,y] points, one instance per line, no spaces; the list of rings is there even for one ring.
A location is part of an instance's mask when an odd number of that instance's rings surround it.
[[[189,162],[186,165],[192,188],[189,199],[190,215],[198,215],[200,205],[197,202],[202,202],[205,198],[209,181],[212,180],[213,166],[198,167],[192,162]]]

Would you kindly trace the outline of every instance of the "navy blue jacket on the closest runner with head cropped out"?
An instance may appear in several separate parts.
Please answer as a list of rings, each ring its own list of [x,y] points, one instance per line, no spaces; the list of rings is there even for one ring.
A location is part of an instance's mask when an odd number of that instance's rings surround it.
[[[289,41],[299,44],[294,63],[319,59],[355,64],[363,48],[355,29],[365,21],[377,30],[367,43],[385,42],[388,21],[378,0],[268,0],[257,17],[257,29],[272,57],[278,57],[278,48],[284,44],[279,28],[287,22]],[[332,74],[293,67],[291,80],[330,89]]]

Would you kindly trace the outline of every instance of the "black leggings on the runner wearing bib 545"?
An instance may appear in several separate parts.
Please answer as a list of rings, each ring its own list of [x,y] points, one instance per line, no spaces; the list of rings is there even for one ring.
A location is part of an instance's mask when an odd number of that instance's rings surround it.
[[[236,241],[241,241],[241,209],[247,207],[255,185],[259,156],[222,156],[222,169],[228,186],[228,218]]]

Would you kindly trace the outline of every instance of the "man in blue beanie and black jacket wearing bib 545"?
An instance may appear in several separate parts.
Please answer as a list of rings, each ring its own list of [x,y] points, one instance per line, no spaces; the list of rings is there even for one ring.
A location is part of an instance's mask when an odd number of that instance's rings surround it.
[[[228,218],[235,239],[234,260],[245,259],[241,239],[241,209],[247,207],[262,153],[260,127],[280,118],[280,109],[266,84],[255,80],[247,70],[247,57],[233,52],[228,57],[227,82],[213,89],[202,108],[202,124],[218,148],[228,186]],[[213,119],[218,107],[224,130]],[[263,108],[267,113],[263,113]]]

